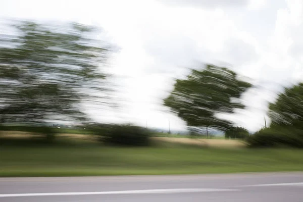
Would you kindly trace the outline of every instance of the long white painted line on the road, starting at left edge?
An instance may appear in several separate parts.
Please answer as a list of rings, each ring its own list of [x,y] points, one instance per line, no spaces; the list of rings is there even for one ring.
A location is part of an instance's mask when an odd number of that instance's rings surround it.
[[[8,193],[8,194],[0,194],[0,197],[94,195],[94,194],[137,194],[137,193],[190,193],[190,192],[215,192],[215,191],[239,191],[239,189],[193,188],[193,189],[146,189],[146,190],[126,190],[126,191],[98,191],[98,192]]]

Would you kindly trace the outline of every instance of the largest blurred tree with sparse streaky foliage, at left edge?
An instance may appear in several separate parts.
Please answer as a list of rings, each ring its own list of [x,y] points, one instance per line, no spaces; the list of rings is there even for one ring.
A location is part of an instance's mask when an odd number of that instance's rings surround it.
[[[83,103],[107,103],[100,64],[111,46],[97,40],[93,28],[34,22],[14,27],[16,35],[0,35],[1,122],[83,121]]]

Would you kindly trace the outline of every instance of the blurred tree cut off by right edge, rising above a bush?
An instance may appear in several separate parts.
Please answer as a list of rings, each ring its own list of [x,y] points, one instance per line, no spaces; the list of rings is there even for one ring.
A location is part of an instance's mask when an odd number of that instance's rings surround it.
[[[284,88],[276,102],[269,105],[271,126],[292,126],[303,129],[303,83]]]

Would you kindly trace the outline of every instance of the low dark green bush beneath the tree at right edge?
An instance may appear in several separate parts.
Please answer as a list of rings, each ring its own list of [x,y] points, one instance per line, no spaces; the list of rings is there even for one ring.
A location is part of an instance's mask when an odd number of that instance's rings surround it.
[[[303,130],[275,127],[263,128],[247,138],[251,147],[290,146],[303,148]]]

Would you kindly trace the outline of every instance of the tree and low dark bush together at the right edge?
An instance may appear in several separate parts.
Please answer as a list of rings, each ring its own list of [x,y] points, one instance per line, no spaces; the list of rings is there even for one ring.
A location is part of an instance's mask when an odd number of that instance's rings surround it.
[[[303,147],[303,83],[284,88],[269,105],[270,128],[250,136],[250,146]]]

